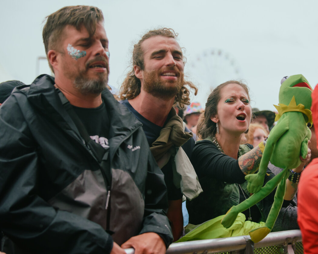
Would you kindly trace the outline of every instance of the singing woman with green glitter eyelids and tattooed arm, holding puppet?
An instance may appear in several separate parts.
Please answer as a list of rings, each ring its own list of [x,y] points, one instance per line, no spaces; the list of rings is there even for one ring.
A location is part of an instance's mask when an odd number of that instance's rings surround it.
[[[252,195],[247,191],[245,175],[258,170],[266,140],[255,148],[251,144],[240,144],[251,118],[249,89],[242,82],[231,80],[220,84],[208,97],[197,126],[197,135],[202,140],[196,143],[191,157],[203,193],[187,201],[190,224],[201,224],[224,215],[233,205]],[[267,169],[264,184],[273,177]],[[289,205],[297,190],[291,185],[287,188],[290,190],[286,191],[283,207]],[[267,214],[263,211],[269,211],[267,208],[273,203],[274,193],[275,190],[244,211],[246,220],[265,221]]]

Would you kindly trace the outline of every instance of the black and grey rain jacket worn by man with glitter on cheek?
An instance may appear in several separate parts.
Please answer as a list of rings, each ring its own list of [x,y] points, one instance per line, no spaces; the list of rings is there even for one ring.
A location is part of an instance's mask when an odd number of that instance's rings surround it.
[[[32,253],[105,254],[113,239],[122,244],[145,232],[169,246],[166,187],[141,123],[102,92],[110,119],[110,236],[100,164],[53,85],[41,75],[0,107],[1,230]]]

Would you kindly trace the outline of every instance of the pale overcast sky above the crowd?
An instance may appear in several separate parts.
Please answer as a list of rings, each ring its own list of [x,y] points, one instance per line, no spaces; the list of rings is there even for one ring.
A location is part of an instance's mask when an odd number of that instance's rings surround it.
[[[149,29],[173,28],[186,49],[193,101],[205,104],[211,88],[244,79],[252,107],[275,110],[280,80],[303,74],[318,83],[317,1],[6,1],[0,0],[0,82],[30,84],[49,73],[42,42],[45,16],[66,5],[94,5],[105,17],[109,39],[109,84],[119,87],[129,70],[133,44]],[[38,67],[37,67],[38,66]]]

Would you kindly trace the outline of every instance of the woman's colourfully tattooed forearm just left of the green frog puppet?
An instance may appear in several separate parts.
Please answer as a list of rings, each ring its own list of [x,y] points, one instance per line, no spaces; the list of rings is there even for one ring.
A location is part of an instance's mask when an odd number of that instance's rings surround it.
[[[259,146],[253,148],[248,153],[239,157],[239,167],[245,175],[252,174],[258,170],[260,159],[262,158],[262,151]]]

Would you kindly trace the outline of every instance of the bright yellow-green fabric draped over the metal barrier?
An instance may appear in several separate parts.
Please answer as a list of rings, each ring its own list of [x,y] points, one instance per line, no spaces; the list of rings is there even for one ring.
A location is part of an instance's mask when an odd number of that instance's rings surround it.
[[[223,217],[224,215],[218,216],[198,226],[188,224],[185,230],[188,232],[190,229],[190,232],[181,237],[178,241],[176,241],[176,243],[221,237],[244,236],[247,235],[249,231],[265,225],[264,222],[255,223],[245,221],[245,215],[243,213],[239,213],[233,225],[226,229],[221,224]]]

